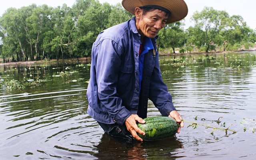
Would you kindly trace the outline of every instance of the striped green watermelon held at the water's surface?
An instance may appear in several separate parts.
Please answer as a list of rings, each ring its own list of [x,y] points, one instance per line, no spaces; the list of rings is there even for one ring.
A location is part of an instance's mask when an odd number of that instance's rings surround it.
[[[144,118],[145,124],[138,124],[140,128],[146,135],[141,135],[140,138],[143,140],[160,140],[168,137],[172,137],[176,134],[178,130],[177,122],[170,117],[156,116]]]

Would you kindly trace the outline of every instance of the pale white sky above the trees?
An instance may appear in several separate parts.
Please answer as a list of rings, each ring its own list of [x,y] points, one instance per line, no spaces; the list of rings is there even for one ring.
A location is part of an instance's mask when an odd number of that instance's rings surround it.
[[[47,4],[48,6],[57,7],[62,4],[72,6],[76,0],[1,0],[0,16],[8,8],[21,8],[30,4]],[[4,1],[4,2],[3,2]],[[99,0],[99,2],[108,2],[109,4],[121,3],[122,0]],[[225,10],[230,16],[240,15],[244,18],[247,25],[256,30],[256,0],[185,0],[188,5],[188,16],[185,18],[185,29],[192,26],[191,16],[196,11],[202,11],[205,6],[213,7],[215,10]]]

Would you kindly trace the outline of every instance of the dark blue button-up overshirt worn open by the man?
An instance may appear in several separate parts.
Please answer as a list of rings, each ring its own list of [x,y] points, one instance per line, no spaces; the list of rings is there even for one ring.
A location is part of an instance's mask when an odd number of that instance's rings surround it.
[[[148,99],[162,116],[176,110],[162,81],[156,40],[144,54],[139,80],[140,34],[135,18],[110,27],[98,35],[92,46],[90,81],[87,88],[88,114],[105,124],[124,124],[131,114],[146,117]],[[141,90],[140,90],[141,84]]]

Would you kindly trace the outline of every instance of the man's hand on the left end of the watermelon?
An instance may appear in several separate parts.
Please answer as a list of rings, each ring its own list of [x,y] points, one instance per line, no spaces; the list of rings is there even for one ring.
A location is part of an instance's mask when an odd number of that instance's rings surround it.
[[[140,128],[138,128],[136,122],[139,123],[146,123],[145,120],[143,120],[142,118],[140,118],[137,114],[132,114],[130,115],[126,120],[125,120],[125,125],[126,128],[129,132],[131,132],[132,136],[139,141],[143,141],[142,138],[140,138],[137,134],[137,132],[139,134],[145,135],[145,132],[143,132]]]

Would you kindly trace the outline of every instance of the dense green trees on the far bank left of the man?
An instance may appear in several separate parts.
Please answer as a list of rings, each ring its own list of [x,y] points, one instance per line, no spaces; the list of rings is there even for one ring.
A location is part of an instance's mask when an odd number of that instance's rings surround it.
[[[97,0],[76,0],[72,8],[9,8],[0,17],[0,56],[5,62],[90,56],[99,32],[131,17],[120,4]]]

